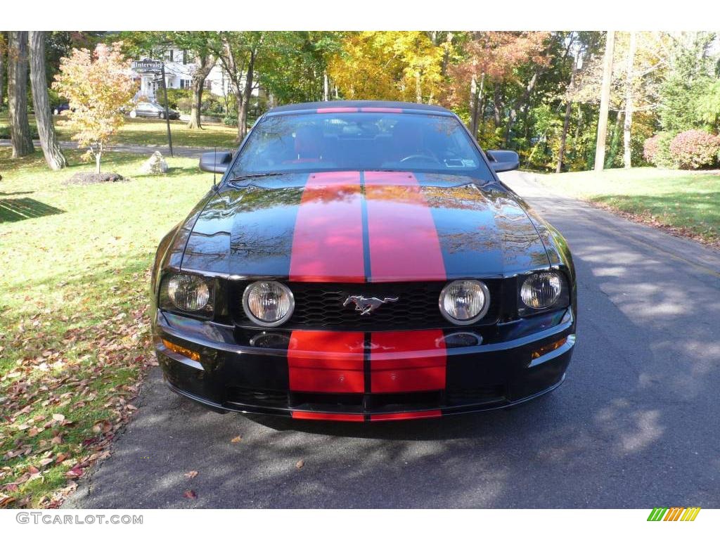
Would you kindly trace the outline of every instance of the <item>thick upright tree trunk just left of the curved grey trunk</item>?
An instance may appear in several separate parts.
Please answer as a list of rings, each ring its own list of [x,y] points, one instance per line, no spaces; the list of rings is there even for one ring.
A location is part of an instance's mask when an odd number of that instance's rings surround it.
[[[22,158],[35,148],[27,122],[27,32],[8,32],[8,95],[12,157]]]

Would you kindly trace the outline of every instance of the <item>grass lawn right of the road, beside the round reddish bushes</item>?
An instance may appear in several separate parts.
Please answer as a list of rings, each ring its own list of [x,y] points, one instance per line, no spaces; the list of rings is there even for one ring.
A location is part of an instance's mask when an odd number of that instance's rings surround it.
[[[720,243],[720,172],[660,168],[538,174],[546,186],[705,243]]]

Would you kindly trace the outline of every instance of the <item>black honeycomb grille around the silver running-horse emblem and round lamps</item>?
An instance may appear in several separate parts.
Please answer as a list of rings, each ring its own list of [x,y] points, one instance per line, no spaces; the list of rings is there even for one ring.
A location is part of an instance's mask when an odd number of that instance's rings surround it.
[[[493,323],[498,318],[500,300],[499,284],[485,282],[490,289],[490,310],[477,324]],[[423,328],[458,328],[449,323],[440,313],[438,298],[445,282],[418,283],[289,283],[295,298],[292,317],[282,328],[309,330],[420,330]],[[239,299],[242,298],[245,283],[238,284],[233,304],[235,320],[241,326],[254,326],[243,312]],[[388,302],[370,315],[361,315],[350,303],[343,302],[351,295],[385,298],[397,297],[397,302]]]

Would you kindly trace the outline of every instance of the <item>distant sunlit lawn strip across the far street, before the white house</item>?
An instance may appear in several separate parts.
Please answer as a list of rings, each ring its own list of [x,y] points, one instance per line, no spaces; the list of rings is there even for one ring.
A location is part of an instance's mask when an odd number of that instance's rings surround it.
[[[73,133],[66,127],[67,117],[53,117],[55,130],[60,140],[71,140]],[[7,125],[7,112],[0,114],[0,127]],[[35,126],[35,117],[30,115],[30,125]],[[204,146],[207,148],[237,148],[235,139],[238,130],[221,124],[205,124],[202,130],[189,130],[186,122],[170,121],[173,145]],[[117,132],[114,143],[136,145],[167,145],[168,132],[164,120],[125,118],[125,125]]]

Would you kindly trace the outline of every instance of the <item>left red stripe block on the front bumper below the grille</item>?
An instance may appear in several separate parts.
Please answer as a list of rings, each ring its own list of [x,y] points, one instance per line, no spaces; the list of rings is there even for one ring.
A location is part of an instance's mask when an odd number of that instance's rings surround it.
[[[363,332],[293,330],[287,348],[292,392],[362,393]]]

